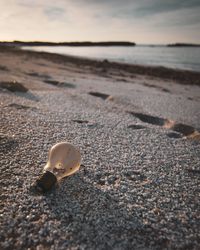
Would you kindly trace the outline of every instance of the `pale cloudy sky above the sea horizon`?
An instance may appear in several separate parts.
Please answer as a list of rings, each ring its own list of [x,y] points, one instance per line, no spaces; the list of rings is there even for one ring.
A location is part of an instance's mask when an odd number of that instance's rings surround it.
[[[200,0],[0,0],[0,40],[200,43]]]

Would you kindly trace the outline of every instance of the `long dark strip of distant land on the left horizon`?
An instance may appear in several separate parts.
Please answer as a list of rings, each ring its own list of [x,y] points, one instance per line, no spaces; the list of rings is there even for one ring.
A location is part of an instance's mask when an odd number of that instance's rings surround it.
[[[135,46],[134,42],[23,42],[23,41],[13,41],[13,42],[0,42],[0,45],[8,46]]]

